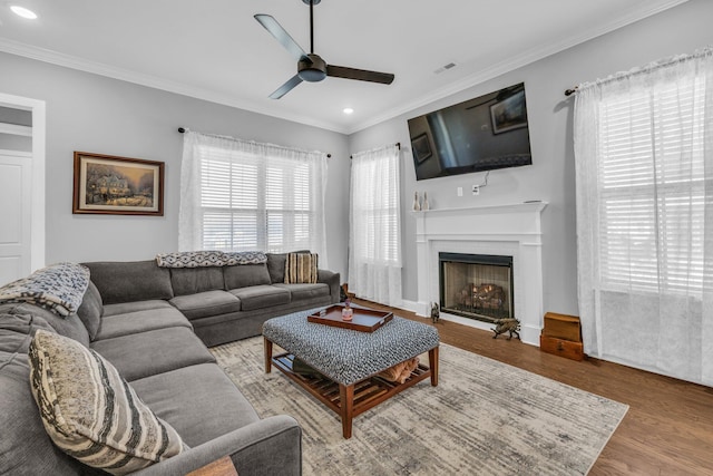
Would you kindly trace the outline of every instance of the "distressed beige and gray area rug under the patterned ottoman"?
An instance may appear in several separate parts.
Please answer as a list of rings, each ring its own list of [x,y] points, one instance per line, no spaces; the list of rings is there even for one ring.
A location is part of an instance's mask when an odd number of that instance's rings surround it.
[[[358,416],[343,439],[336,414],[264,373],[262,337],[211,350],[261,417],[300,422],[305,476],[583,475],[628,409],[441,344],[438,387],[427,379]]]

